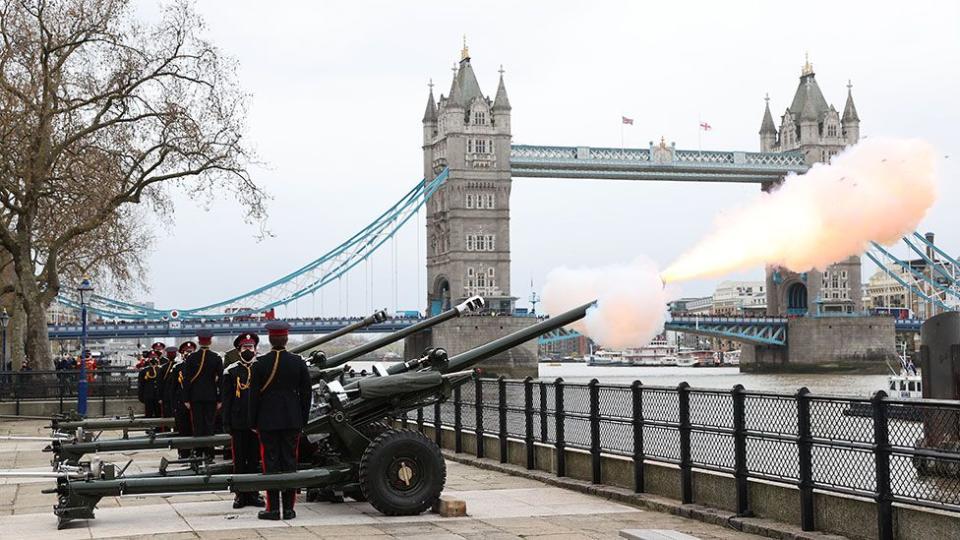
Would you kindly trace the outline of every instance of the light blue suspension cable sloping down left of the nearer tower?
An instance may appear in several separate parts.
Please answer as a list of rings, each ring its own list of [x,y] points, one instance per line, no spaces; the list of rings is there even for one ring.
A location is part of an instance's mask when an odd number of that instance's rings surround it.
[[[369,225],[303,267],[266,285],[227,300],[196,308],[177,309],[179,317],[182,319],[220,319],[253,315],[290,304],[308,294],[321,290],[331,282],[339,280],[349,270],[367,260],[385,242],[394,238],[397,231],[416,216],[417,210],[443,185],[448,175],[448,170],[444,169],[432,180],[421,180]],[[395,268],[394,272],[396,273]],[[57,302],[68,307],[80,307],[76,298],[66,294],[58,296]],[[162,319],[169,316],[172,311],[171,309],[150,308],[100,295],[94,295],[88,309],[105,318],[133,320]]]

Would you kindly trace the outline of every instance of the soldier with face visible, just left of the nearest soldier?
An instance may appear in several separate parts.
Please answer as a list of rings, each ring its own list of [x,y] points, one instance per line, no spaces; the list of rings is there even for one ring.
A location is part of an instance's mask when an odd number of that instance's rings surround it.
[[[230,434],[233,450],[233,472],[255,473],[260,469],[260,448],[257,434],[250,423],[250,374],[257,356],[256,334],[241,334],[234,343],[239,349],[238,360],[223,370],[220,395],[223,408],[223,429]],[[263,507],[263,499],[256,491],[237,493],[234,508],[244,506]]]

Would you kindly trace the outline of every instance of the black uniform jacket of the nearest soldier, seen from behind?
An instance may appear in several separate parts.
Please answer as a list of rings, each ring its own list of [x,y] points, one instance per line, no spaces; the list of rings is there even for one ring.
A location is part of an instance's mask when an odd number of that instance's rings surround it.
[[[302,429],[310,414],[310,373],[285,349],[257,357],[251,368],[250,423],[264,431]]]

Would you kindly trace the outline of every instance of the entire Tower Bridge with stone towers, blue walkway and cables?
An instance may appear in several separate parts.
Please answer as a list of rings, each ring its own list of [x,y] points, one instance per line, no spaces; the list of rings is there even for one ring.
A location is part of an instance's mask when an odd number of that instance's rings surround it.
[[[847,85],[841,115],[824,98],[813,67],[807,62],[801,70],[793,100],[779,124],[778,127],[774,123],[768,97],[759,130],[760,151],[684,150],[665,139],[651,142],[646,148],[512,144],[512,106],[504,72],[500,70],[491,99],[482,92],[470,53],[464,46],[449,91],[435,97],[430,84],[422,118],[423,181],[370,225],[304,267],[228,300],[200,308],[178,309],[184,322],[175,330],[204,324],[201,322],[204,320],[210,324],[209,321],[224,318],[228,313],[231,316],[258,313],[313,294],[370,257],[415,212],[424,208],[425,311],[437,313],[469,296],[480,295],[487,299],[491,311],[505,315],[467,318],[408,341],[414,351],[436,343],[456,353],[531,322],[528,317],[509,316],[515,312],[517,300],[510,283],[513,178],[753,183],[770,191],[787,175],[803,173],[816,162],[828,161],[845,146],[859,140],[860,118],[853,103],[852,86]],[[787,328],[794,320],[785,317],[804,314],[811,315],[809,322],[804,323],[802,329],[798,327],[789,332],[794,342],[797,335],[802,334],[804,340],[813,343],[811,354],[821,354],[828,349],[834,356],[849,352],[843,344],[828,347],[828,342],[837,338],[821,332],[818,325],[831,330],[832,325],[817,321],[822,319],[819,317],[822,314],[851,315],[862,311],[859,257],[851,257],[824,272],[794,273],[768,267],[766,282],[767,312],[773,321],[769,324],[677,319],[670,323],[671,328],[735,337],[747,344],[746,362],[783,363],[788,360]],[[69,298],[60,300],[76,305]],[[92,306],[93,311],[107,318],[156,321],[169,312],[107,298],[98,298],[97,302]],[[889,350],[881,355],[894,353],[892,323],[873,324],[855,317],[849,320],[856,326],[849,331],[863,337],[864,350],[876,349],[874,345],[885,343],[889,337],[889,346],[884,345]],[[119,332],[108,326],[109,323],[105,323],[104,328],[98,327],[97,331],[104,335]],[[838,326],[843,325],[838,323]],[[229,324],[224,326],[227,328],[231,328]],[[309,333],[322,332],[325,328],[318,324],[310,327]],[[163,328],[158,326],[157,330]],[[386,327],[383,330],[387,331]],[[159,335],[174,335],[173,331],[168,329]],[[73,332],[72,328],[51,327],[51,335],[55,337],[68,337]],[[753,354],[753,346],[758,347],[757,354]],[[500,360],[514,366],[535,365],[536,356],[535,344],[529,344],[508,351]]]

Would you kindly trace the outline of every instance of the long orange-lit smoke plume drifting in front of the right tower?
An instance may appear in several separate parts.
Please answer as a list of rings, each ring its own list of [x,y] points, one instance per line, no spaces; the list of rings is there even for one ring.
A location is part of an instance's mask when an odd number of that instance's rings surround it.
[[[791,175],[717,220],[716,230],[663,272],[667,282],[764,264],[824,269],[915,230],[936,198],[934,149],[914,139],[869,139]]]

